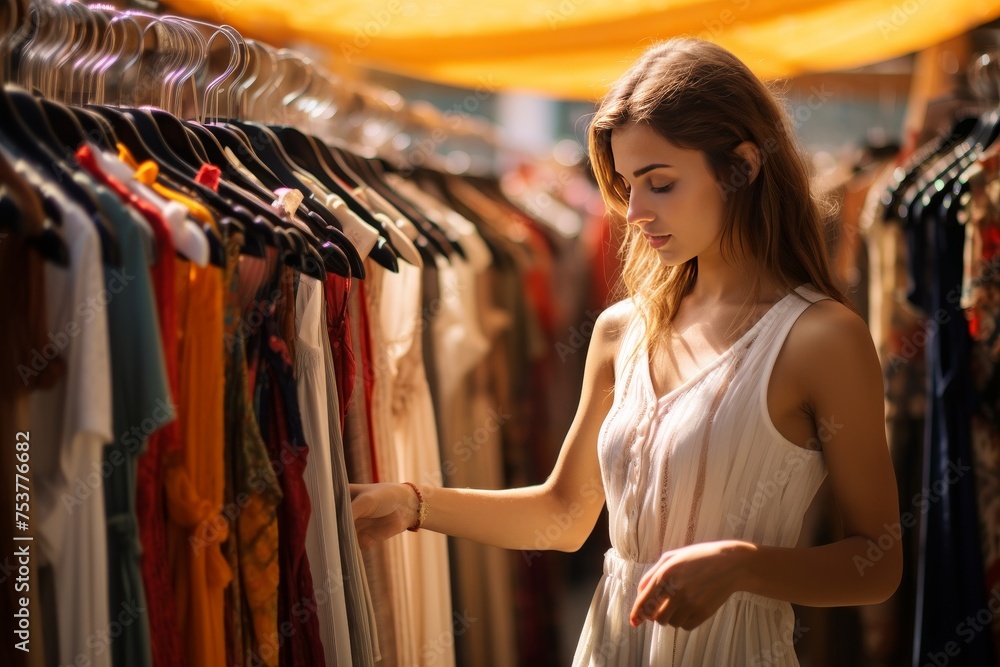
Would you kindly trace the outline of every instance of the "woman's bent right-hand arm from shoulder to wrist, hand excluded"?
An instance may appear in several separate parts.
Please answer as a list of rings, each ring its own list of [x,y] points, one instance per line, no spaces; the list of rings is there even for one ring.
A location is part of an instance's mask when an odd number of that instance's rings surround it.
[[[882,368],[868,328],[842,305],[821,302],[800,319],[787,352],[816,420],[838,426],[823,459],[845,538],[807,549],[756,547],[742,588],[816,607],[882,602],[903,568]]]

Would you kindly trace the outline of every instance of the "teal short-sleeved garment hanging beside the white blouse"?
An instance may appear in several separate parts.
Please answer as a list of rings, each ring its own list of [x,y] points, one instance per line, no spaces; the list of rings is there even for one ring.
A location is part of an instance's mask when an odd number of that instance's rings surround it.
[[[145,222],[107,188],[84,174],[75,178],[96,195],[121,250],[121,266],[104,267],[105,291],[92,304],[95,311],[106,309],[108,318],[116,437],[104,449],[101,470],[108,520],[108,608],[109,622],[117,622],[123,609],[140,610],[112,640],[112,665],[145,667],[152,665],[146,605],[156,601],[146,600],[142,583],[136,468],[149,436],[175,418],[149,273],[154,241]]]

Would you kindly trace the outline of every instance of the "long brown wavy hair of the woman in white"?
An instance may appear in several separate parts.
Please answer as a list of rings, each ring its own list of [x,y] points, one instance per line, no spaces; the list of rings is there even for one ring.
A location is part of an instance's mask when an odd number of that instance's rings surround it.
[[[727,261],[752,259],[786,290],[812,283],[850,306],[827,259],[822,231],[827,207],[810,191],[791,121],[736,56],[711,42],[671,39],[647,50],[601,101],[589,129],[590,160],[612,216],[622,223],[628,192],[615,175],[611,133],[633,123],[705,154],[724,198],[721,250]],[[752,181],[749,164],[733,151],[744,141],[753,142],[760,154]],[[653,344],[694,286],[698,259],[664,266],[640,238],[635,225],[626,225],[622,282]],[[759,292],[760,274],[752,272],[749,279],[752,293]]]

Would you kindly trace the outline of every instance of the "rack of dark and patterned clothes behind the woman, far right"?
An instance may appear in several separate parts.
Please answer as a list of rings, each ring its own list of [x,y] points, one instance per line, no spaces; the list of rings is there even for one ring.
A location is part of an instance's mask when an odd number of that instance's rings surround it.
[[[858,233],[843,231],[843,275],[882,363],[899,485],[886,532],[906,554],[897,593],[861,613],[863,654],[880,664],[1000,659],[997,54],[968,80],[977,96],[947,131],[870,161],[845,199]]]

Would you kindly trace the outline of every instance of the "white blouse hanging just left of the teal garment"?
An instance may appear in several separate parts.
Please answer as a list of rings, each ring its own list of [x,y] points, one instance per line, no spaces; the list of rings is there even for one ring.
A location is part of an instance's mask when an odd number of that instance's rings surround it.
[[[100,241],[94,223],[58,186],[24,163],[16,168],[58,208],[70,259],[66,268],[44,267],[50,341],[41,350],[64,359],[66,372],[30,397],[32,525],[56,596],[58,645],[48,657],[110,665],[107,642],[93,640],[111,613],[103,480],[95,473],[114,438]],[[130,609],[133,616],[142,612]]]

